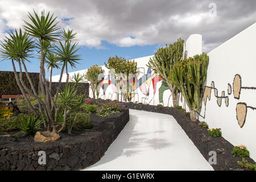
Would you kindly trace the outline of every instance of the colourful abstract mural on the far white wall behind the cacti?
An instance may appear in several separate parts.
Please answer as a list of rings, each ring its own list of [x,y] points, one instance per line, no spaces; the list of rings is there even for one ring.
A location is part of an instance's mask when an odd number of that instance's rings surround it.
[[[129,80],[130,88],[132,88],[130,92],[130,101],[142,102],[143,104],[154,104],[156,93],[159,91],[157,97],[159,98],[159,103],[163,104],[163,93],[169,88],[168,85],[162,81],[162,77],[156,74],[154,71],[151,71],[150,68],[147,68],[146,71],[145,68],[137,68],[137,71],[137,74],[134,75],[134,77],[131,77]],[[113,75],[111,75],[109,72],[108,74],[105,74],[104,72],[100,77],[101,82],[98,85],[98,90],[101,91],[101,94],[99,97],[115,100],[116,98],[114,96],[116,96],[118,93],[122,96],[122,100],[125,100],[125,97],[123,97],[122,94],[122,90],[118,89],[118,83],[115,81]],[[73,78],[71,77],[70,80],[72,79]],[[156,88],[157,84],[160,86],[159,90]],[[126,85],[126,83],[123,82],[123,85]],[[166,99],[169,101],[170,96]]]

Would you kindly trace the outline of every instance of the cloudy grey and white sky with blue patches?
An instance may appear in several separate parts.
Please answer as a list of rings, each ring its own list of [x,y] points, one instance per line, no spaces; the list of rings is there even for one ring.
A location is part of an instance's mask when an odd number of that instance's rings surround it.
[[[0,37],[21,27],[33,9],[55,13],[60,27],[78,32],[83,60],[74,70],[102,65],[114,55],[153,55],[191,34],[203,35],[203,51],[209,52],[256,22],[255,0],[0,0]],[[4,62],[0,70],[12,71]],[[32,63],[29,71],[38,72],[37,65]]]

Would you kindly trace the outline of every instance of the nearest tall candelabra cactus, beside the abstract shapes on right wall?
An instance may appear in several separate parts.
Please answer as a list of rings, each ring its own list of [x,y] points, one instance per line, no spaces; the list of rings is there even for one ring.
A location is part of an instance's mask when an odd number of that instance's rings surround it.
[[[168,80],[181,90],[191,110],[191,120],[196,121],[196,111],[201,109],[201,86],[207,77],[209,57],[206,53],[195,55],[172,66]]]

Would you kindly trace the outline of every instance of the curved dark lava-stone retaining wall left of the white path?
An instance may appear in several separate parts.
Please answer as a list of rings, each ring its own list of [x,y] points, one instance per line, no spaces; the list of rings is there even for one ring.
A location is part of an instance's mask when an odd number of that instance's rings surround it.
[[[129,121],[129,109],[96,123],[81,135],[47,143],[9,142],[0,146],[1,170],[77,170],[98,162]],[[39,151],[46,164],[39,165]]]

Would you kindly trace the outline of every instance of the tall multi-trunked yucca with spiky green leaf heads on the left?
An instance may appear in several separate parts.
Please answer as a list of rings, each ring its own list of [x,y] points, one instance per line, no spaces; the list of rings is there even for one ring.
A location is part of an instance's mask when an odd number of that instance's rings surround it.
[[[61,106],[57,106],[56,101],[59,96],[64,69],[66,69],[66,85],[68,85],[68,64],[73,68],[76,66],[77,61],[80,60],[80,55],[77,54],[77,51],[79,50],[79,48],[77,48],[77,43],[72,43],[76,33],[73,33],[73,31],[69,29],[67,32],[65,30],[60,32],[60,28],[58,26],[59,22],[56,22],[57,16],[53,17],[53,14],[50,14],[49,12],[45,14],[45,12],[42,11],[42,14],[37,14],[34,11],[33,15],[28,13],[28,18],[30,19],[30,22],[24,20],[24,30],[21,30],[20,28],[19,31],[11,31],[9,36],[6,36],[3,39],[1,42],[1,56],[4,58],[3,60],[11,60],[15,80],[30,109],[33,110],[34,113],[39,113],[37,108],[32,106],[31,101],[26,96],[26,93],[30,94],[30,96],[34,97],[38,101],[39,111],[43,114],[42,119],[44,127],[48,131],[56,133],[57,131],[54,123],[56,123],[57,113],[61,109],[60,107],[63,107],[63,103],[61,103]],[[60,38],[63,38],[64,43],[60,41]],[[30,62],[29,59],[31,57],[35,57],[34,52],[38,54],[37,57],[40,60],[39,81],[37,82],[39,84],[39,90],[35,89],[37,85],[32,82],[31,76],[27,72],[26,67],[26,63]],[[18,63],[19,76],[14,64],[15,62]],[[51,69],[51,72],[52,68],[61,68],[59,85],[57,86],[55,97],[52,97],[52,79],[49,79],[49,84],[46,80],[46,67],[47,69]],[[30,88],[23,81],[23,69]],[[42,97],[38,96],[38,92],[42,93]],[[78,102],[76,102],[76,104],[77,103]],[[76,104],[73,105],[74,108]],[[64,107],[66,106],[67,105]],[[76,110],[74,108],[72,108],[72,111]],[[55,114],[53,115],[52,113]],[[58,131],[60,132],[61,130]]]

